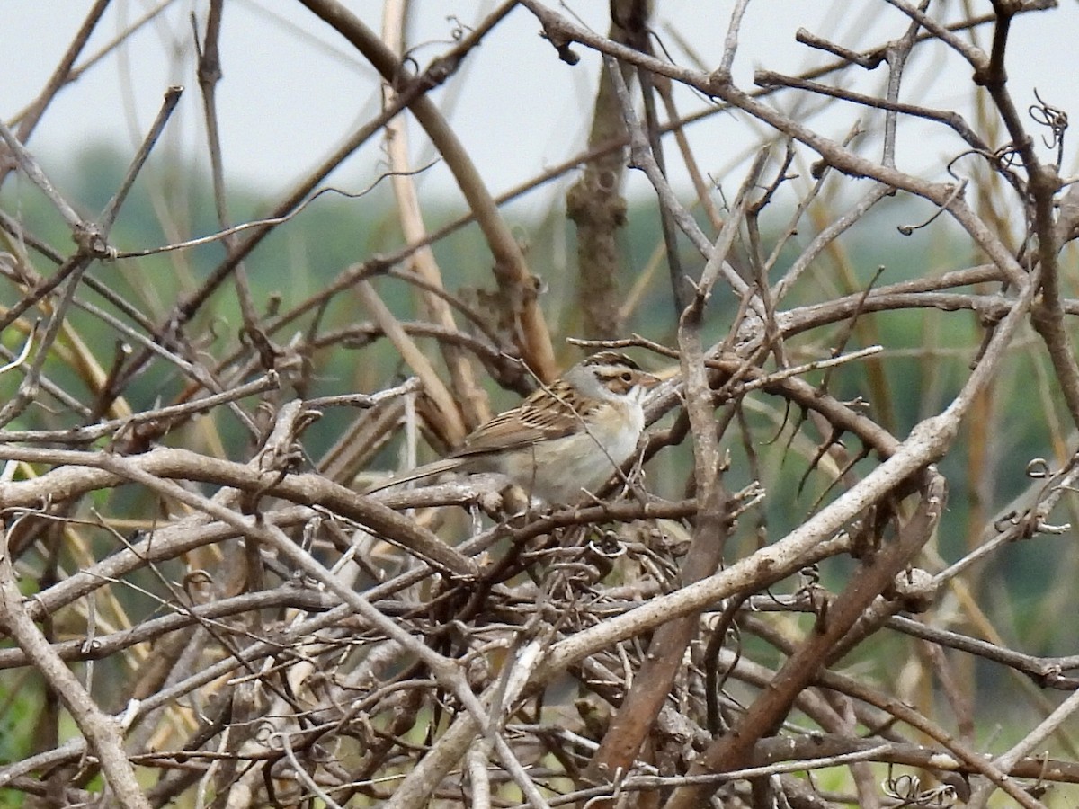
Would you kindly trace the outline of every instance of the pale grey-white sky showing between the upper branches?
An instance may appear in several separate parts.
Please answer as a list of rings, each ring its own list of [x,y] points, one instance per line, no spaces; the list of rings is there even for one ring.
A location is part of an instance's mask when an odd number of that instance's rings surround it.
[[[151,0],[113,0],[80,63],[158,4]],[[657,0],[656,4],[655,29],[674,58],[689,63],[680,45],[680,35],[696,56],[713,67],[722,53],[730,0]],[[933,8],[938,4],[934,2]],[[972,4],[979,11],[991,9],[987,0]],[[185,155],[204,154],[190,15],[194,13],[202,27],[206,5],[176,0],[139,30],[127,46],[103,58],[62,92],[29,143],[46,170],[64,165],[68,156],[85,146],[103,140],[114,141],[131,152],[153,120],[169,84],[183,84],[187,93],[169,125],[167,147]],[[378,30],[380,2],[351,0],[346,5]],[[453,18],[467,25],[493,5],[464,0],[414,2],[418,11],[409,39],[419,44],[418,61],[426,65],[446,50]],[[606,2],[575,0],[566,5],[587,24],[606,30]],[[90,0],[4,0],[0,6],[4,31],[4,46],[0,49],[0,115],[5,120],[10,121],[38,94],[90,6]],[[942,3],[951,13],[958,13],[960,6],[957,2]],[[843,12],[830,11],[833,8]],[[883,0],[849,0],[834,5],[823,0],[755,0],[749,4],[736,61],[735,77],[742,86],[750,87],[756,66],[794,73],[831,59],[794,41],[798,26],[861,49],[898,36],[902,17]],[[494,193],[579,151],[587,135],[599,59],[577,49],[584,58],[578,66],[570,67],[557,59],[538,30],[537,22],[525,9],[514,10],[449,85],[434,94]],[[983,46],[987,47],[988,36],[989,29],[985,28]],[[1009,72],[1021,108],[1034,101],[1033,90],[1038,87],[1046,100],[1073,113],[1074,119],[1079,116],[1076,42],[1076,0],[1062,0],[1062,8],[1054,12],[1015,20]],[[224,78],[219,85],[219,109],[226,169],[234,181],[249,183],[268,194],[290,187],[378,108],[372,69],[298,2],[229,0],[221,50]],[[935,50],[942,53],[941,47]],[[933,82],[948,71],[952,81]],[[845,81],[857,81],[855,86],[866,92],[879,92],[884,76],[882,67]],[[969,69],[953,56],[916,59],[907,76],[906,100],[950,107],[965,104],[969,95]],[[926,86],[931,86],[928,99],[921,97]],[[780,104],[788,105],[794,98],[788,93]],[[685,92],[680,105],[683,112],[692,112],[706,101]],[[964,107],[959,111],[969,114]],[[857,116],[865,114],[864,110],[847,106],[820,120],[819,128],[839,138]],[[433,155],[414,126],[411,133],[419,165]],[[727,114],[691,129],[698,156],[708,161],[704,168],[721,177],[732,172],[732,163],[750,148],[755,135],[746,120]],[[1069,145],[1076,142],[1073,138]],[[929,170],[938,173],[947,155],[959,151],[954,138],[911,142],[901,137],[900,143],[901,167],[929,166]],[[1067,157],[1065,170],[1075,170],[1075,166],[1076,160]],[[382,168],[378,143],[373,142],[355,154],[331,182],[358,189]],[[443,167],[429,172],[422,184],[431,193],[452,191],[452,179]],[[737,173],[730,184],[737,187]],[[545,209],[549,194],[563,192],[564,188],[558,187],[538,192],[532,202],[522,203],[524,212],[533,206],[537,211]]]

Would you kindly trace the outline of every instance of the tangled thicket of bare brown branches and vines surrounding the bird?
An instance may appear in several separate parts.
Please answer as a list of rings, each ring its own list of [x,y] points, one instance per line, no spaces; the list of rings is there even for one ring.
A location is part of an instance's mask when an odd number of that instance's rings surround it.
[[[396,3],[380,36],[339,0],[302,0],[379,71],[382,110],[234,229],[216,87],[219,54],[243,54],[211,0],[191,60],[226,258],[195,276],[177,257],[201,247],[179,233],[167,252],[111,238],[178,90],[100,215],[33,152],[88,58],[96,3],[38,101],[0,126],[2,178],[24,177],[0,200],[0,804],[1074,805],[1079,658],[1039,656],[1022,628],[1077,609],[1079,554],[1050,511],[1074,509],[1079,474],[1065,273],[1079,192],[1065,111],[1022,110],[1005,71],[1010,31],[1063,12],[878,4],[889,39],[802,31],[783,44],[818,66],[760,69],[747,88],[736,55],[768,58],[738,52],[748,0],[708,69],[657,46],[643,0],[612,0],[607,36],[519,0],[422,70]],[[529,265],[544,246],[522,250],[433,100],[475,80],[461,68],[509,12],[548,41],[545,69],[602,63],[589,142],[530,184],[572,182],[577,261],[545,284]],[[958,60],[940,80],[969,83],[973,120],[901,92],[923,53]],[[866,70],[887,76],[877,95],[848,88]],[[809,98],[864,116],[812,128]],[[692,139],[724,112],[762,133],[726,195],[699,167],[715,145]],[[438,232],[406,122],[468,205]],[[938,131],[953,147],[940,165],[897,165],[903,138]],[[310,297],[265,287],[262,239],[302,229],[291,215],[380,137],[397,248],[356,255]],[[668,184],[674,163],[696,196]],[[619,236],[627,164],[661,234],[639,275]],[[23,216],[31,184],[73,249]],[[925,260],[898,280],[856,272],[847,239],[883,227],[880,209],[909,214],[897,195],[937,211],[904,228]],[[482,291],[428,249],[469,222],[491,257]],[[664,372],[606,491],[523,511],[493,477],[358,493],[394,451],[414,462],[418,443],[446,450],[488,419],[488,380],[518,395],[551,380],[574,335]],[[327,393],[347,366],[374,393]],[[1016,457],[1006,427],[1047,457]],[[1010,507],[1005,479],[1025,481]],[[1044,568],[1033,615],[1015,581],[982,577],[1002,554]]]

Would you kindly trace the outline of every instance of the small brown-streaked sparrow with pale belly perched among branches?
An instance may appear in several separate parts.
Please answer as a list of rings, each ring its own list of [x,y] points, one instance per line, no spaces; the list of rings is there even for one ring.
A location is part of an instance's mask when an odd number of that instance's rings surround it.
[[[583,490],[598,491],[633,454],[644,431],[644,397],[659,382],[625,354],[592,354],[477,427],[442,460],[365,494],[450,471],[496,472],[532,498],[575,503]]]

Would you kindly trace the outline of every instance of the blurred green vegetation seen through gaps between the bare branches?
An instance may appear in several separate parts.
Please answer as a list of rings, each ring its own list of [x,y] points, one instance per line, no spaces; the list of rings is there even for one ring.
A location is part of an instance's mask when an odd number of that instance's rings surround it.
[[[69,200],[87,214],[99,211],[120,177],[125,170],[125,159],[106,149],[88,149],[69,165],[63,166],[56,178]],[[49,168],[49,166],[46,166]],[[29,182],[21,179],[9,183],[0,196],[0,206],[17,216],[38,237],[66,251],[69,235],[59,218],[50,210],[47,203]],[[231,212],[235,221],[258,218],[269,209],[267,201],[250,192],[231,190]],[[457,216],[461,208],[448,203],[441,210],[431,206],[426,216],[429,227],[437,227]],[[909,277],[927,274],[927,265],[933,272],[957,269],[978,261],[976,256],[957,250],[958,244],[946,225],[930,229],[916,237],[899,234],[897,224],[924,219],[924,210],[909,200],[896,198],[882,206],[874,216],[866,218],[852,229],[843,239],[846,262],[853,270],[853,276],[844,283],[853,283],[856,289],[872,283],[878,269],[883,274],[877,284],[890,284]],[[111,243],[120,249],[142,248],[162,245],[175,239],[175,233],[165,233],[161,222],[167,217],[181,237],[199,236],[217,230],[216,216],[206,178],[197,170],[180,164],[155,164],[148,169],[146,178],[135,187],[131,200],[123,208]],[[775,222],[786,223],[789,211],[776,217]],[[543,276],[549,286],[549,311],[558,320],[552,328],[557,334],[579,334],[578,323],[572,307],[574,294],[572,269],[555,264],[556,255],[569,255],[572,265],[573,225],[560,214],[550,214],[538,221],[516,221],[515,228],[527,242],[533,270]],[[808,241],[810,236],[806,236]],[[797,238],[797,237],[796,237]],[[661,243],[654,206],[648,201],[631,205],[629,224],[624,231],[623,246],[627,268],[631,273],[644,268],[656,245]],[[246,262],[258,305],[264,306],[272,296],[279,294],[283,307],[288,307],[334,278],[345,266],[364,261],[373,253],[390,251],[401,245],[395,217],[390,205],[388,190],[378,188],[360,200],[342,200],[327,196],[319,198],[296,217],[291,222],[277,229],[261,244]],[[558,246],[559,249],[555,249]],[[487,287],[490,285],[490,258],[475,225],[454,233],[435,246],[435,252],[451,289],[462,287]],[[112,264],[95,264],[91,273],[129,300],[138,301],[154,320],[164,319],[169,306],[182,290],[193,288],[209,270],[221,260],[223,249],[218,245],[194,248],[183,252],[138,261],[122,261]],[[683,259],[688,268],[699,265],[688,245]],[[43,259],[36,258],[36,266],[42,275],[50,275],[53,266]],[[819,262],[809,283],[800,286],[801,299],[784,302],[784,305],[829,300],[842,286],[841,277],[828,260]],[[781,260],[778,272],[787,264]],[[673,304],[665,280],[665,271],[656,274],[646,296],[645,305],[638,307],[626,332],[640,332],[653,340],[673,344]],[[628,284],[627,284],[628,286]],[[412,316],[411,290],[404,284],[383,279],[378,283],[381,294],[402,318]],[[819,293],[819,294],[818,294]],[[87,300],[99,305],[106,304],[88,290],[83,292]],[[0,293],[0,303],[11,305],[18,293],[10,283]],[[711,333],[706,337],[721,338],[727,330],[735,314],[735,302],[722,293],[715,296],[711,304],[709,323]],[[363,313],[349,293],[338,296],[324,315],[324,329],[340,328],[353,323]],[[72,324],[83,340],[91,346],[99,361],[106,367],[111,360],[117,334],[99,320],[83,312],[71,316]],[[231,284],[222,285],[210,304],[200,314],[188,329],[189,335],[206,335],[206,349],[219,355],[219,347],[235,338],[240,323],[235,294]],[[278,343],[287,342],[308,321],[290,326],[288,331],[274,335]],[[966,378],[968,362],[974,356],[981,331],[975,317],[969,312],[944,313],[934,310],[916,310],[902,313],[865,316],[856,332],[856,338],[846,347],[856,348],[861,344],[877,342],[886,347],[885,356],[876,367],[884,374],[885,401],[874,400],[866,381],[866,364],[852,364],[836,371],[830,383],[830,390],[843,399],[863,397],[875,415],[890,411],[886,426],[899,436],[919,419],[939,410]],[[824,330],[829,334],[837,330]],[[209,335],[217,334],[217,340]],[[872,340],[868,340],[872,337]],[[23,334],[14,329],[2,335],[10,348],[17,349]],[[817,343],[809,343],[817,340]],[[818,357],[828,356],[829,343],[820,335],[800,338],[798,344],[812,346]],[[948,346],[941,352],[939,346]],[[573,351],[564,345],[556,346],[561,356],[570,361]],[[310,395],[328,395],[347,392],[370,392],[387,384],[395,372],[404,369],[394,366],[394,352],[385,345],[371,345],[357,349],[337,347],[325,352],[316,364],[316,384]],[[981,492],[981,505],[988,512],[995,512],[1012,497],[1026,489],[1030,481],[1025,475],[1029,458],[1050,455],[1050,434],[1044,420],[1037,417],[1037,408],[1032,397],[1040,390],[1038,364],[1035,353],[1015,353],[1010,358],[1009,372],[1002,376],[993,397],[994,419],[1005,428],[993,431],[994,445],[987,448],[989,457],[1000,476],[995,480],[995,491]],[[54,360],[46,367],[46,373],[68,389],[79,384],[62,361]],[[820,374],[811,375],[818,382]],[[17,379],[12,374],[0,378],[0,395],[9,396]],[[172,369],[162,364],[154,365],[129,388],[128,399],[134,409],[153,407],[154,402],[167,402],[182,386],[182,380]],[[494,393],[495,407],[508,407],[515,397],[503,392]],[[1050,396],[1052,393],[1050,392]],[[754,402],[756,406],[754,406]],[[884,409],[884,410],[882,410]],[[231,416],[222,415],[222,419]],[[333,411],[316,423],[306,434],[310,454],[317,456],[340,435],[345,414]],[[735,557],[757,541],[774,540],[797,525],[814,509],[818,498],[835,496],[827,491],[823,475],[815,474],[801,493],[798,480],[806,469],[808,454],[811,454],[819,437],[810,427],[802,424],[798,414],[786,411],[781,402],[768,397],[754,395],[747,408],[747,417],[752,428],[753,450],[759,455],[759,475],[768,492],[760,512],[760,518],[743,519],[742,538],[735,543],[730,556]],[[890,423],[889,423],[890,422]],[[78,423],[70,413],[45,408],[31,408],[11,427],[58,427]],[[800,437],[795,449],[788,449],[790,434],[797,428]],[[220,430],[221,435],[236,436],[237,443],[228,445],[229,452],[241,453],[244,445],[241,430]],[[962,441],[966,442],[966,437]],[[745,447],[738,441],[726,442],[733,460],[728,475],[728,485],[738,489],[752,478]],[[802,452],[796,448],[802,447]],[[849,448],[857,451],[857,447]],[[942,465],[946,475],[951,496],[947,513],[942,522],[938,549],[941,557],[952,561],[960,557],[969,541],[967,519],[975,493],[969,491],[966,482],[966,467],[969,447],[961,443]],[[807,454],[808,453],[808,454]],[[660,494],[675,496],[688,469],[687,452],[680,448],[665,453],[665,457],[651,469],[650,486]],[[1007,463],[1001,460],[1007,458]],[[388,461],[387,461],[388,463]],[[869,463],[869,462],[866,462]],[[123,507],[133,516],[145,510],[134,493],[118,493],[110,503],[115,511]],[[125,499],[126,498],[126,499]],[[1063,520],[1058,520],[1063,521]],[[1079,641],[1079,621],[1056,619],[1047,604],[1047,592],[1073,593],[1071,585],[1079,570],[1073,538],[1042,536],[1032,544],[1020,544],[1005,549],[992,561],[981,565],[969,579],[975,593],[980,594],[988,611],[996,611],[995,618],[1008,636],[1011,645],[1029,654],[1061,655],[1076,650]],[[1053,560],[1047,563],[1046,560]],[[837,584],[847,575],[849,565],[831,563],[824,571],[823,584]],[[1075,602],[1056,598],[1052,604],[1067,604],[1074,613]],[[1057,606],[1057,608],[1058,608]],[[136,611],[136,614],[138,612]],[[890,657],[888,643],[878,642],[860,649],[855,656],[863,664],[887,670]],[[5,677],[0,677],[0,703],[4,702],[8,687]],[[999,671],[995,676],[979,678],[979,688],[984,696],[998,689],[1007,689]],[[24,695],[25,690],[22,691]],[[0,762],[12,760],[22,755],[29,739],[18,731],[32,726],[36,707],[27,700],[8,703],[0,713]],[[0,797],[2,805],[2,797]]]

